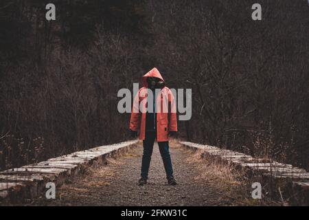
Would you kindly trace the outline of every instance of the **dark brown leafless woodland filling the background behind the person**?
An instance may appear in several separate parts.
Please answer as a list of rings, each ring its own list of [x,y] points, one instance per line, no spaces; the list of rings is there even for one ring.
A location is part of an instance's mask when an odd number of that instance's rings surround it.
[[[0,169],[128,139],[117,91],[192,88],[181,137],[309,168],[305,0],[0,3]]]

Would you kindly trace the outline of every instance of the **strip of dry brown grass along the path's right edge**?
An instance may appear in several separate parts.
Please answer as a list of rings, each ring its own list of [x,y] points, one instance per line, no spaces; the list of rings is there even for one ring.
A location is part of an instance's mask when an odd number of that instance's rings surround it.
[[[222,199],[232,199],[235,201],[233,206],[281,206],[282,203],[268,198],[253,199],[251,197],[251,184],[253,179],[247,177],[242,170],[234,166],[222,164],[214,158],[201,157],[201,151],[192,151],[184,148],[176,140],[172,140],[172,148],[187,154],[186,162],[192,168],[198,170],[199,175],[195,179],[204,181],[205,184],[213,188],[225,191]]]

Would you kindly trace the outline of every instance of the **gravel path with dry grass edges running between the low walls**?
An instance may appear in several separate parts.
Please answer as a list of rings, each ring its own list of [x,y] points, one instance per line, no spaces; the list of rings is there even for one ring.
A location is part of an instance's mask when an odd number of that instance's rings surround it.
[[[167,185],[159,147],[155,143],[148,184],[137,186],[142,146],[110,159],[98,168],[87,168],[80,177],[57,188],[56,199],[43,197],[26,206],[234,206],[244,205],[242,184],[230,170],[210,166],[176,142],[170,143],[176,186]],[[238,197],[235,197],[237,192]]]

